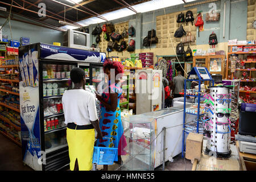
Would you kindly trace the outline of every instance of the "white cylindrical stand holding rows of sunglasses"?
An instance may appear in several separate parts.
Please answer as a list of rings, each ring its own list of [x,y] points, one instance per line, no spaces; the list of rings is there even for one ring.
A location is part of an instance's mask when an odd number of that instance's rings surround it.
[[[205,96],[208,103],[205,104],[204,116],[205,133],[207,134],[207,147],[204,153],[217,158],[229,158],[230,150],[230,113],[232,88],[228,86],[210,86],[210,92]],[[210,102],[212,101],[212,102]],[[212,105],[213,104],[213,105]]]

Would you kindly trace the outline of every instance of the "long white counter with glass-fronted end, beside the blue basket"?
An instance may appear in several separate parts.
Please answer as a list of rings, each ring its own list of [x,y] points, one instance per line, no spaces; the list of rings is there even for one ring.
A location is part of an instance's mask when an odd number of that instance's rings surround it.
[[[122,170],[152,171],[181,153],[183,108],[180,105],[122,119],[128,154]],[[196,118],[191,114],[186,117],[186,123]]]

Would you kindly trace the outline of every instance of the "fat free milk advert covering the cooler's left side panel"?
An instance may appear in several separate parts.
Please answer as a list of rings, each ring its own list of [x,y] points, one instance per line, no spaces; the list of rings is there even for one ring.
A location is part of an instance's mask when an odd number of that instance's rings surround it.
[[[31,45],[28,49],[20,49],[19,52],[19,68],[29,67],[29,65],[23,64],[33,62],[34,58],[32,53],[37,51],[35,44]],[[31,56],[28,52],[32,52]],[[25,60],[24,60],[25,59]],[[27,59],[27,60],[26,60]],[[31,59],[31,60],[30,60]],[[32,61],[33,60],[33,61]],[[34,74],[38,71],[38,64],[33,64]],[[31,67],[32,70],[32,67]],[[21,139],[22,139],[22,157],[23,162],[35,169],[36,171],[42,171],[42,164],[38,163],[41,158],[41,141],[40,141],[40,119],[39,119],[39,85],[27,84],[31,81],[32,71],[20,72],[23,74],[22,79],[19,82],[19,101],[20,101],[20,127],[21,127]],[[34,78],[38,77],[34,75]],[[28,81],[28,82],[27,82]]]

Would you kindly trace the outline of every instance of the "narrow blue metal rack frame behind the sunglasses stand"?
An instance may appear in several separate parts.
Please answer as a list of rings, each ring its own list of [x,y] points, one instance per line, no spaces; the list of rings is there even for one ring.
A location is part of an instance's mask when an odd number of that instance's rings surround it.
[[[197,116],[197,127],[196,127],[196,133],[199,133],[199,119],[200,119],[200,116],[203,115],[203,114],[200,114],[200,100],[201,100],[201,97],[203,97],[201,95],[201,84],[205,81],[209,81],[209,82],[212,82],[212,86],[214,85],[214,80],[212,79],[212,77],[210,76],[210,73],[208,71],[207,68],[205,68],[205,71],[207,73],[207,75],[209,76],[209,79],[203,79],[201,77],[201,74],[199,73],[199,71],[197,70],[197,67],[193,67],[192,70],[191,70],[191,73],[188,75],[188,78],[189,76],[191,75],[197,75],[198,79],[186,79],[185,82],[184,82],[184,111],[183,111],[183,139],[182,139],[182,158],[184,158],[184,151],[185,151],[185,147],[184,147],[184,144],[185,144],[185,116],[186,114],[192,114],[192,115],[196,115]],[[198,95],[197,96],[193,96],[193,95],[189,95],[189,94],[186,94],[186,89],[187,89],[187,81],[196,81],[199,83],[199,90],[198,90]],[[191,96],[191,97],[195,97],[197,98],[197,114],[193,114],[193,113],[187,113],[186,112],[186,97],[187,96]],[[187,133],[188,134],[188,133]]]

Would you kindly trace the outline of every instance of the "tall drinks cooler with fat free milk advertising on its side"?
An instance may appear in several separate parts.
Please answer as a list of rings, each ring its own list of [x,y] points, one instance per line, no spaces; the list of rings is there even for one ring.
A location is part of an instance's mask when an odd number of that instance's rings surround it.
[[[80,64],[88,65],[92,75],[86,79],[92,85],[99,76],[96,70],[105,57],[106,54],[101,52],[43,43],[19,47],[24,164],[37,171],[68,168],[68,144],[61,102],[65,90],[72,88],[70,71]]]

